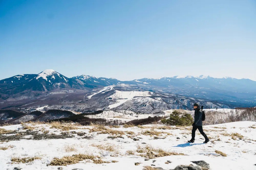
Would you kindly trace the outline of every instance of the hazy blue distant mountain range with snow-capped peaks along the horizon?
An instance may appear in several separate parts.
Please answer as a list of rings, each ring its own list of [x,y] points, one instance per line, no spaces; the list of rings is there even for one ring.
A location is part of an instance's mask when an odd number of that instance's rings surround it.
[[[193,102],[197,99],[202,102],[212,101],[218,107],[224,105],[225,107],[256,106],[256,81],[250,79],[214,78],[201,75],[199,77],[174,76],[160,79],[143,78],[133,81],[119,81],[113,78],[98,78],[89,75],[68,78],[54,70],[45,70],[39,74],[20,74],[0,80],[0,109],[6,107],[18,108],[19,105],[23,106],[31,102],[31,100],[39,100],[46,97],[47,99],[44,100],[49,100],[49,98],[53,100],[54,98],[57,99],[61,94],[68,95],[68,100],[70,98],[78,100],[78,96],[79,100],[81,96],[85,99],[86,96],[90,96],[94,91],[100,91],[107,86],[120,87],[121,91],[150,91],[154,92],[154,94],[173,94],[177,98],[179,98],[178,96],[187,99],[192,97]],[[108,96],[105,97],[108,98]],[[61,100],[63,100],[63,96]],[[36,103],[39,104],[38,102]],[[183,109],[190,107],[190,104],[182,106],[184,104],[179,105],[179,107]],[[100,105],[102,106],[101,109],[103,109],[104,104]],[[172,107],[177,106],[166,106],[168,109]],[[90,109],[93,110],[93,108]],[[95,110],[97,110],[96,106]],[[159,111],[159,109],[156,110]]]

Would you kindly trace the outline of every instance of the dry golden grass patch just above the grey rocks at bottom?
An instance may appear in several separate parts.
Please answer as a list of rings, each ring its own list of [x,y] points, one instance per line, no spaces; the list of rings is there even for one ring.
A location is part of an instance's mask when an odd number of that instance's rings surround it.
[[[143,153],[140,154],[140,156],[143,156],[145,158],[153,159],[157,157],[163,157],[163,156],[170,156],[170,155],[185,155],[183,153],[177,153],[177,152],[169,152],[165,151],[163,149],[155,149],[149,145],[145,147],[137,146],[136,152]]]

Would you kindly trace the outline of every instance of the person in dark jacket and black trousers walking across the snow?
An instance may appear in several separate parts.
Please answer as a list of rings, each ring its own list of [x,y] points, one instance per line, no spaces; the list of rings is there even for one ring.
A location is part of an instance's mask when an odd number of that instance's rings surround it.
[[[194,110],[195,110],[195,116],[194,116],[194,123],[192,124],[192,126],[193,126],[193,128],[192,128],[192,138],[190,140],[188,140],[188,142],[194,143],[196,129],[198,129],[200,134],[202,134],[205,137],[204,143],[207,143],[207,142],[209,142],[209,139],[208,139],[207,135],[203,131],[203,127],[202,127],[202,111],[200,110],[200,107],[199,107],[198,103],[194,104]]]

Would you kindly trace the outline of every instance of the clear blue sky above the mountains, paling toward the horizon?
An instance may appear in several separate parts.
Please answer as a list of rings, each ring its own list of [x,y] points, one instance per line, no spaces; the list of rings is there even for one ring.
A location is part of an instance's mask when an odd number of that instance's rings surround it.
[[[256,81],[256,1],[0,1],[0,80],[45,69]]]

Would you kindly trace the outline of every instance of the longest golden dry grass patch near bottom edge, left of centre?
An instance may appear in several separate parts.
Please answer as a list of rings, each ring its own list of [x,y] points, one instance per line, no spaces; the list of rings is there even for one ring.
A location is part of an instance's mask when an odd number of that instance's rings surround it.
[[[50,165],[53,166],[66,166],[66,165],[71,165],[71,164],[76,164],[79,161],[82,160],[87,160],[90,159],[93,161],[95,164],[102,164],[102,163],[111,163],[109,161],[103,161],[102,159],[97,159],[100,158],[95,157],[94,155],[85,155],[85,154],[77,154],[77,155],[72,155],[72,156],[63,156],[62,158],[54,158]],[[117,161],[112,161],[112,162],[117,162]]]

